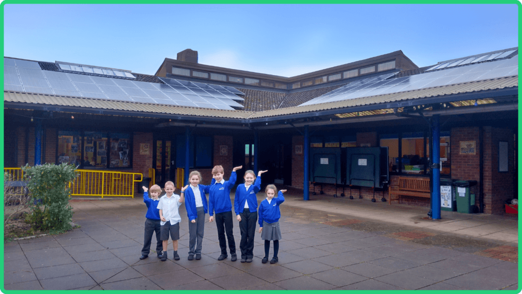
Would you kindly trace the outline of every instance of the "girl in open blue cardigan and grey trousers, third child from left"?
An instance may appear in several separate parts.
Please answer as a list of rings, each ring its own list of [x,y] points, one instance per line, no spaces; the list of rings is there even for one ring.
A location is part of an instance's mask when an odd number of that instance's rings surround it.
[[[194,171],[188,176],[188,182],[190,185],[186,185],[184,189],[186,195],[185,208],[187,209],[189,221],[188,260],[192,261],[194,254],[196,254],[196,259],[201,259],[201,242],[203,242],[203,233],[205,231],[205,213],[208,211],[205,192],[208,193],[210,186],[199,185],[201,174],[198,171]]]

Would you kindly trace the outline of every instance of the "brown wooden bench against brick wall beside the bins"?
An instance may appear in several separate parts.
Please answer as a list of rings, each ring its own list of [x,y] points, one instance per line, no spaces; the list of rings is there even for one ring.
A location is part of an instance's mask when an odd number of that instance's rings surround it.
[[[392,204],[392,200],[398,200],[400,203],[401,195],[430,198],[430,178],[399,177],[398,185],[389,186],[388,203]]]

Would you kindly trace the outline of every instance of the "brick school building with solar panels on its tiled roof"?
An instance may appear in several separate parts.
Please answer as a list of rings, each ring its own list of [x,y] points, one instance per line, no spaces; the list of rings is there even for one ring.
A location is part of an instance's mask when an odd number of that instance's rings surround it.
[[[4,57],[4,165],[153,168],[160,185],[186,169],[207,184],[213,166],[228,178],[243,165],[238,183],[268,169],[264,184],[303,189],[305,200],[389,201],[399,179],[475,180],[474,210],[503,214],[518,198],[518,48],[477,53],[418,67],[396,51],[293,77],[199,64],[191,49],[154,75]],[[372,147],[387,150],[372,174],[381,182],[355,185],[346,154]],[[328,164],[333,174],[317,176]],[[399,188],[401,203],[432,204],[425,187]]]

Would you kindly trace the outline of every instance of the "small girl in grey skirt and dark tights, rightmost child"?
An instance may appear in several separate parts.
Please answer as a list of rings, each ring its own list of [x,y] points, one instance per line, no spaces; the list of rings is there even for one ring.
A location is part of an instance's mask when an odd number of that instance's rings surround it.
[[[277,263],[277,253],[279,251],[279,239],[281,239],[281,229],[279,229],[279,218],[281,212],[279,206],[284,202],[283,193],[287,190],[280,190],[278,197],[276,196],[277,188],[274,185],[266,186],[266,199],[261,201],[259,205],[259,233],[261,239],[265,240],[265,257],[263,257],[262,263],[268,262],[268,253],[270,252],[270,240],[274,241],[274,257],[270,263]],[[272,203],[274,202],[274,203]],[[263,228],[265,228],[263,230]]]

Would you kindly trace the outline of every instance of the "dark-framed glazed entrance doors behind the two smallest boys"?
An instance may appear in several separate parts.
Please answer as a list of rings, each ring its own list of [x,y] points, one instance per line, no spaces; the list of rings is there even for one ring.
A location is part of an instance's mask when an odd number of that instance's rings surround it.
[[[165,185],[165,182],[171,180],[174,182],[174,161],[172,159],[173,144],[171,140],[156,139],[154,140],[154,153],[156,179],[155,182],[160,187]]]

